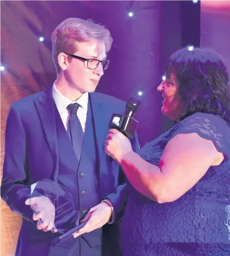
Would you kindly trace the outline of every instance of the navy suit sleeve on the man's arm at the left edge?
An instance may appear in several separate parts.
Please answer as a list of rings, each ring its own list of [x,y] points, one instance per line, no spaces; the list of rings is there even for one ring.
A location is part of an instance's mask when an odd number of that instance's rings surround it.
[[[25,130],[19,112],[11,106],[6,122],[1,197],[12,211],[32,220],[33,211],[25,205],[30,197],[27,171]]]

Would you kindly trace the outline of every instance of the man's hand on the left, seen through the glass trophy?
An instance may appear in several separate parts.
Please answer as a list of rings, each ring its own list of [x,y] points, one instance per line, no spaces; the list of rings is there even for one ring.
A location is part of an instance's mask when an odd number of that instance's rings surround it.
[[[25,201],[36,213],[33,214],[33,220],[37,220],[37,229],[42,229],[44,232],[50,231],[56,233],[55,228],[55,206],[47,197],[33,197]],[[41,222],[42,220],[42,222]]]

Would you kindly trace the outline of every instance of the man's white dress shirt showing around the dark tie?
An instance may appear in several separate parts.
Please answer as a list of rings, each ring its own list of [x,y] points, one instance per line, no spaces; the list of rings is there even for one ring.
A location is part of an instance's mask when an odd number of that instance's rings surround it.
[[[54,102],[58,108],[61,120],[63,121],[66,130],[69,121],[69,111],[67,110],[67,107],[71,103],[78,103],[80,105],[77,110],[77,117],[81,123],[83,132],[85,132],[89,93],[83,93],[82,96],[79,99],[77,99],[77,101],[72,102],[70,101],[70,99],[68,99],[59,92],[54,83],[54,85],[52,86],[52,97],[54,98]]]

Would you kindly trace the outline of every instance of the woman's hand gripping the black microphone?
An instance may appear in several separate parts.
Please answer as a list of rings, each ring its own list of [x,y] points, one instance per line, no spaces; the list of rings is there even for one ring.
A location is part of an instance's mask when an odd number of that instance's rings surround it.
[[[130,140],[117,129],[110,129],[107,141],[105,142],[105,152],[118,163],[121,162],[122,156],[132,151]]]

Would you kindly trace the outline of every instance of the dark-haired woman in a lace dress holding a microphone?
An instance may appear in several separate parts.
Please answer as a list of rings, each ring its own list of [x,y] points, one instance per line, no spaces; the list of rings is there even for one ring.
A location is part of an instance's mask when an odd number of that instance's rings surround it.
[[[157,89],[175,126],[145,144],[140,156],[114,129],[105,147],[131,183],[123,256],[230,255],[227,68],[211,50],[180,49]]]

